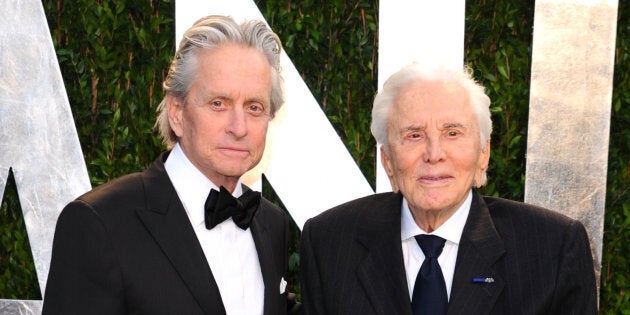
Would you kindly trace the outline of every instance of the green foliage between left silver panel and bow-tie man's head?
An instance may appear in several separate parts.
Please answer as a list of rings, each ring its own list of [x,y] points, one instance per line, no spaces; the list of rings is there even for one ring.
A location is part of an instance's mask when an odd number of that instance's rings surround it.
[[[175,47],[173,3],[44,7],[92,184],[144,169],[162,149],[152,126]]]

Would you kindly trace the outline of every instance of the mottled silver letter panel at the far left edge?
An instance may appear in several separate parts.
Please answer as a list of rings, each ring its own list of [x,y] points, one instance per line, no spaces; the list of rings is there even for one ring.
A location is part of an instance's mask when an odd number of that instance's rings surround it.
[[[57,217],[91,186],[42,2],[0,8],[0,192],[12,169],[43,295]],[[0,300],[2,314],[40,309]]]

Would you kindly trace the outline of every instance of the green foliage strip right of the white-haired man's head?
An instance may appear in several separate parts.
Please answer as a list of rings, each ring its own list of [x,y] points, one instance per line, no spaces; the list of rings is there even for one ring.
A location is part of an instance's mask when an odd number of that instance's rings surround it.
[[[466,1],[465,56],[492,100],[487,195],[523,200],[533,1]]]

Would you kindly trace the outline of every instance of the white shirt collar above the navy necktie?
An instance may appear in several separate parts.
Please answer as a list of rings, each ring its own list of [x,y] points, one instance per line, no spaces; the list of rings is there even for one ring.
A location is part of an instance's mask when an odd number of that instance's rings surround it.
[[[472,204],[472,189],[468,192],[468,196],[464,203],[453,213],[453,215],[440,225],[433,233],[427,233],[423,231],[413,220],[411,210],[409,209],[409,203],[407,199],[403,197],[401,205],[401,226],[400,226],[400,239],[402,241],[412,238],[418,234],[433,234],[446,239],[448,242],[459,245],[459,240],[464,232],[464,226],[466,225],[466,219],[470,212],[470,205]]]

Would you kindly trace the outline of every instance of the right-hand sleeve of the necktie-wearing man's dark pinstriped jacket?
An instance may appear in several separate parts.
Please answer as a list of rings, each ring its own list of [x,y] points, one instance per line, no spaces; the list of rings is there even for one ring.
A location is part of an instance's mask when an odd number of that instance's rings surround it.
[[[589,244],[584,226],[573,221],[564,236],[551,313],[597,314],[597,285]]]

